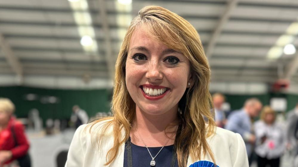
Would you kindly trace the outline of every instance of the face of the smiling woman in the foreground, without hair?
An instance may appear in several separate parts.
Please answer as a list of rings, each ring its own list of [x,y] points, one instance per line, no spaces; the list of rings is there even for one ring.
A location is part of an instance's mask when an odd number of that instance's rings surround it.
[[[186,56],[142,29],[134,31],[126,59],[126,86],[137,108],[152,115],[177,111],[190,78]]]

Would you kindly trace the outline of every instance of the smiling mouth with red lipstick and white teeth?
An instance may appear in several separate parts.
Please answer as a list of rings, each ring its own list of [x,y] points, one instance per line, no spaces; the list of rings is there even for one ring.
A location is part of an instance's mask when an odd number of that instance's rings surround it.
[[[158,100],[162,97],[164,97],[167,92],[169,92],[169,88],[163,87],[163,86],[151,86],[151,85],[142,85],[140,86],[140,89],[142,89],[144,97],[146,97],[149,100]]]

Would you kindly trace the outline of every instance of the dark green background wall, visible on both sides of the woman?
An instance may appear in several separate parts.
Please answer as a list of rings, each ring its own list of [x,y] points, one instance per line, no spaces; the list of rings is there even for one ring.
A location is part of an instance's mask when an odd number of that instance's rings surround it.
[[[27,117],[28,111],[33,108],[38,109],[42,119],[69,119],[72,113],[72,106],[77,104],[85,111],[89,117],[95,116],[97,112],[110,111],[110,98],[112,90],[93,89],[93,90],[63,90],[63,89],[42,89],[25,86],[0,87],[0,97],[10,98],[16,105],[16,116]],[[40,100],[28,101],[26,94],[37,94],[39,99],[44,96],[58,97],[56,104],[43,104]],[[226,101],[231,104],[231,110],[243,107],[246,99],[257,97],[263,105],[268,105],[272,97],[284,97],[287,99],[287,111],[295,107],[298,102],[298,94],[254,94],[254,95],[232,95],[225,94]]]

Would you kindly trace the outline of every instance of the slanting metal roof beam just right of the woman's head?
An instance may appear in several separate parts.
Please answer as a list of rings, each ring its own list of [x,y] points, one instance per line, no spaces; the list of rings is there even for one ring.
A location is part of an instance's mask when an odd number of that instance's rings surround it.
[[[207,57],[211,57],[212,56],[212,52],[214,50],[214,47],[216,45],[216,41],[218,39],[218,37],[220,36],[221,31],[223,30],[223,26],[226,24],[226,22],[228,21],[232,10],[237,6],[238,0],[230,0],[227,4],[226,10],[224,11],[222,17],[220,18],[212,36],[211,39],[209,41],[209,44],[207,46],[206,49],[206,56]]]

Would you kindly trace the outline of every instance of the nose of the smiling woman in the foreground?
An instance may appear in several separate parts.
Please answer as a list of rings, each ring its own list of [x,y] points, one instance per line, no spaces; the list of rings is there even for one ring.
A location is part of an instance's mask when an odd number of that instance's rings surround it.
[[[146,78],[150,82],[162,81],[163,74],[161,72],[161,67],[158,62],[150,63],[150,65],[148,66],[147,73],[146,73]]]

